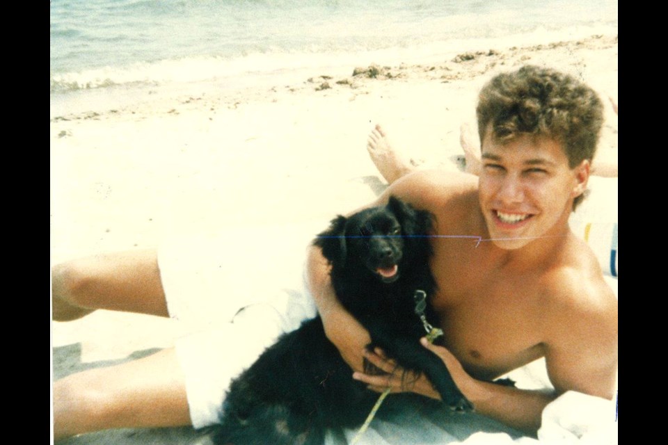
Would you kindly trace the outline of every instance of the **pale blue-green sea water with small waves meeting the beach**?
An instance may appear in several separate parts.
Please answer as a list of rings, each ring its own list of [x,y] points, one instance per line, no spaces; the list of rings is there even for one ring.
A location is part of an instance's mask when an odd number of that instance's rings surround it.
[[[51,99],[617,33],[616,0],[51,0]]]

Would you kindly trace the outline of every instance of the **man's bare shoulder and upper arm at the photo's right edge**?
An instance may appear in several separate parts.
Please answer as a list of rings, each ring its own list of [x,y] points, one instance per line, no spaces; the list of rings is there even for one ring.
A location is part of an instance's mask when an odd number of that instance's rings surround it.
[[[617,370],[617,297],[588,246],[578,241],[580,259],[559,264],[541,280],[548,374],[558,392],[610,398]]]

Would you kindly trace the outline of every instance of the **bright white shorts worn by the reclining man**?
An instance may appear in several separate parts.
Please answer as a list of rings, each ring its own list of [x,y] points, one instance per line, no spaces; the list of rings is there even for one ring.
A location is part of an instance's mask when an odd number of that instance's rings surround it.
[[[176,352],[195,428],[217,423],[230,381],[317,314],[303,279],[312,236],[279,232],[183,238],[158,250],[169,314],[188,332]]]

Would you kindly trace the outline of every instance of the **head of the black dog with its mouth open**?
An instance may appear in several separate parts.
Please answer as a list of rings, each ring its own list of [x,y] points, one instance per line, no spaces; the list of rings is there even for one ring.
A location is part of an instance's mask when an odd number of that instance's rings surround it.
[[[364,209],[346,218],[337,216],[330,227],[319,234],[319,245],[333,268],[365,268],[382,282],[392,283],[402,268],[418,252],[411,248],[431,229],[431,214],[417,211],[390,196],[388,204]]]

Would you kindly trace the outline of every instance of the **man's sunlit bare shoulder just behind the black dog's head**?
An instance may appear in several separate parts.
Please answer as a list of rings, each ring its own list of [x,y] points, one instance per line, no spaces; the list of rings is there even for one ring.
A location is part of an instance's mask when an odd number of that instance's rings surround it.
[[[477,188],[477,177],[468,173],[417,170],[395,181],[383,195],[395,195],[415,207],[434,211],[477,200]]]

